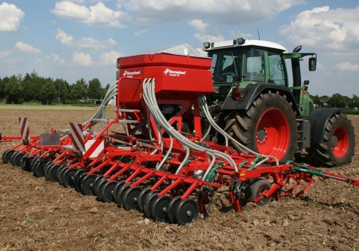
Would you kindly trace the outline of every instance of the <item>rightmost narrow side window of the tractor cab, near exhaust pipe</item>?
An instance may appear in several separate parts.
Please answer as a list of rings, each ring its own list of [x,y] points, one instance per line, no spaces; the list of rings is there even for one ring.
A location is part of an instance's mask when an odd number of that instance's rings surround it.
[[[281,54],[268,52],[270,76],[268,82],[285,85],[285,69]]]

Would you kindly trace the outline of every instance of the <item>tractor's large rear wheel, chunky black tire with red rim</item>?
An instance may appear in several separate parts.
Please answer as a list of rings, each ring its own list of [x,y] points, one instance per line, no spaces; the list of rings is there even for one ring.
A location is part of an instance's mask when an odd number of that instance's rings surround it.
[[[232,111],[224,121],[225,131],[245,147],[275,156],[282,163],[294,159],[298,141],[296,112],[285,95],[263,93],[248,110]]]

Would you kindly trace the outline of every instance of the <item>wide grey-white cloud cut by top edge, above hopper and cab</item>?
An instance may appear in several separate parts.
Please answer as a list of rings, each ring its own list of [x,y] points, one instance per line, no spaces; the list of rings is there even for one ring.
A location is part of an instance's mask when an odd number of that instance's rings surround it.
[[[269,19],[304,0],[118,0],[118,7],[148,25],[183,19],[213,19],[223,24],[250,24]]]

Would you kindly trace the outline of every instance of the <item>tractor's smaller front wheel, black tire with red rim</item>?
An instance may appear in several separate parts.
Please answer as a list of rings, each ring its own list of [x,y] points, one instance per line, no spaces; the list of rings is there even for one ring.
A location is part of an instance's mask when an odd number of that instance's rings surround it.
[[[309,161],[327,167],[342,166],[351,161],[354,147],[354,128],[347,116],[339,112],[325,125],[322,143],[308,149]]]

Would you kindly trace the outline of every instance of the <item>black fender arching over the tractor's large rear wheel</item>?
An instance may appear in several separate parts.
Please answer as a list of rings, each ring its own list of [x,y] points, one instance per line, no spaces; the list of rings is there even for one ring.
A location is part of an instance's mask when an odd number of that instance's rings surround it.
[[[299,115],[299,109],[295,102],[293,93],[288,89],[288,87],[272,83],[252,83],[248,84],[244,89],[241,89],[242,98],[237,101],[232,95],[229,95],[222,104],[221,110],[248,110],[252,103],[258,98],[262,93],[268,92],[270,90],[272,93],[279,92],[280,95],[285,95],[288,102],[291,102],[291,107]]]

